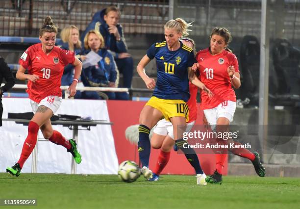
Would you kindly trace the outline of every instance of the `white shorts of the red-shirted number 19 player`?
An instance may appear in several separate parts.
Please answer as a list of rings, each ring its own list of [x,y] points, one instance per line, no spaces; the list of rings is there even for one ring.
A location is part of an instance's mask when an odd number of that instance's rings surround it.
[[[54,114],[58,110],[61,102],[62,102],[62,98],[57,96],[48,96],[42,99],[40,103],[36,103],[30,100],[32,112],[34,113],[36,113],[39,106],[44,105],[47,106],[50,110],[52,110]]]

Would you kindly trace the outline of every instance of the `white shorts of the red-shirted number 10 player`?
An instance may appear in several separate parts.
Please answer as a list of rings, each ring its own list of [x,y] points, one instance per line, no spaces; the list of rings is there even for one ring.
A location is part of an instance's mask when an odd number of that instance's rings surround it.
[[[220,117],[225,117],[231,123],[233,121],[233,115],[235,112],[236,103],[232,101],[224,101],[218,106],[211,109],[204,109],[204,115],[206,117],[207,122],[211,126],[211,129],[214,130],[217,125],[217,120]]]

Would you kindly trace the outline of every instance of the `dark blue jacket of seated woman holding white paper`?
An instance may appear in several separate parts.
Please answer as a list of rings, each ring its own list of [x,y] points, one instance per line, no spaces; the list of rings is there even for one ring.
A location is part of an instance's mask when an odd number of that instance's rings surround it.
[[[86,51],[87,54],[89,51]],[[101,49],[98,54],[102,59],[97,65],[82,69],[81,81],[84,86],[108,86],[109,82],[117,79],[116,64],[113,55],[106,49]]]

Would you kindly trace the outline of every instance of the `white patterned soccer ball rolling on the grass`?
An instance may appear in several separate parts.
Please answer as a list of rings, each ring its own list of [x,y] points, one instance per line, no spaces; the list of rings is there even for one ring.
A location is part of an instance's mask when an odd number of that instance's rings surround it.
[[[118,176],[123,182],[132,183],[141,176],[141,169],[134,161],[125,160],[119,165]]]

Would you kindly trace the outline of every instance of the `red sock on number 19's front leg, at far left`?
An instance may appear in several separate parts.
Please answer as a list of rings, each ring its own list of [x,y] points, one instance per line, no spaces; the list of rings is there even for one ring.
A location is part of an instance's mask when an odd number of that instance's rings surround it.
[[[18,160],[18,163],[20,164],[20,167],[23,168],[23,165],[32,153],[32,150],[34,149],[37,141],[37,134],[39,131],[39,125],[37,125],[35,122],[30,121],[28,124],[28,135],[25,139],[25,142],[23,144],[21,157]]]

